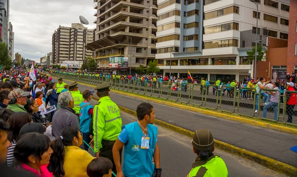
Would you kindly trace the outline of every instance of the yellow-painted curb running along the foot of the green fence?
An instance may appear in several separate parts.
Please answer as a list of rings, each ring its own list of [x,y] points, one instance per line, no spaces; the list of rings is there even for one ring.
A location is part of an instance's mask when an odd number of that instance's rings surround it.
[[[53,77],[53,78],[57,79],[57,77]],[[70,81],[70,80],[67,80],[67,79],[64,79],[64,80]],[[73,81],[70,81],[70,82],[73,82]],[[89,84],[85,84],[85,83],[79,83],[79,84],[95,88],[95,86],[93,86],[93,85],[89,85]],[[157,99],[153,99],[153,98],[148,98],[148,97],[145,97],[145,96],[139,96],[139,95],[131,94],[129,92],[122,92],[122,91],[118,91],[118,90],[114,90],[114,89],[111,89],[110,91],[114,92],[114,93],[126,95],[126,96],[129,95],[131,97],[142,99],[142,100],[155,102],[155,103],[158,103],[158,104],[163,104],[163,105],[167,105],[167,106],[171,106],[171,107],[175,107],[175,108],[179,108],[179,109],[184,109],[184,110],[200,113],[200,114],[215,116],[215,117],[219,117],[219,118],[223,118],[223,119],[227,119],[227,120],[231,120],[231,121],[236,121],[236,122],[240,122],[240,123],[244,123],[244,124],[248,124],[248,125],[252,125],[252,126],[257,126],[257,127],[262,127],[262,128],[266,128],[266,129],[275,130],[275,131],[278,131],[278,132],[297,135],[297,129],[295,129],[295,128],[289,128],[289,127],[274,125],[274,124],[261,122],[261,121],[257,121],[257,120],[251,120],[251,119],[247,119],[247,118],[243,118],[243,117],[233,116],[232,114],[224,114],[224,113],[219,113],[219,112],[215,112],[215,111],[204,110],[204,109],[200,109],[200,108],[190,106],[190,105],[184,105],[184,104],[178,104],[178,103],[173,103],[173,102],[161,101],[161,100],[157,100]],[[255,119],[255,118],[253,118],[253,119]],[[282,124],[282,123],[278,123],[278,124]]]

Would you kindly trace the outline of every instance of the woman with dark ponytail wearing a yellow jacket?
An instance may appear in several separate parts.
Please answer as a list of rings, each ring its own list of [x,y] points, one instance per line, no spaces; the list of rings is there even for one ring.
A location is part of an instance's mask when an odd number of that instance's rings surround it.
[[[94,157],[79,147],[82,143],[81,133],[71,126],[64,128],[61,136],[52,142],[49,171],[55,177],[88,177],[87,166]]]

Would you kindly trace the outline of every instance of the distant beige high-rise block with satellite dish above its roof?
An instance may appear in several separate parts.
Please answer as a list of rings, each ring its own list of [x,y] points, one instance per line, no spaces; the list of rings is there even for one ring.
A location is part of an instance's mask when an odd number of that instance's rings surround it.
[[[52,35],[52,63],[84,61],[92,57],[92,51],[85,45],[94,41],[94,35],[94,30],[79,23],[72,23],[71,27],[59,26]]]

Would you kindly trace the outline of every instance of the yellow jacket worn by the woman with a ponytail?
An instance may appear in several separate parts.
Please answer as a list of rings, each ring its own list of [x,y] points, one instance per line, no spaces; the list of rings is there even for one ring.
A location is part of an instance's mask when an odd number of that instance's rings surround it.
[[[64,177],[88,177],[87,166],[94,157],[76,146],[65,146]]]

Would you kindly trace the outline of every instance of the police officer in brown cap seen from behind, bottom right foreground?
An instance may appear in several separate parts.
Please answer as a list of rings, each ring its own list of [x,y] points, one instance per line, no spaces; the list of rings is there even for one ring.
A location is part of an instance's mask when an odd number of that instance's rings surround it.
[[[213,155],[214,139],[209,130],[196,130],[192,139],[193,151],[197,155],[187,177],[227,177],[225,162]]]

